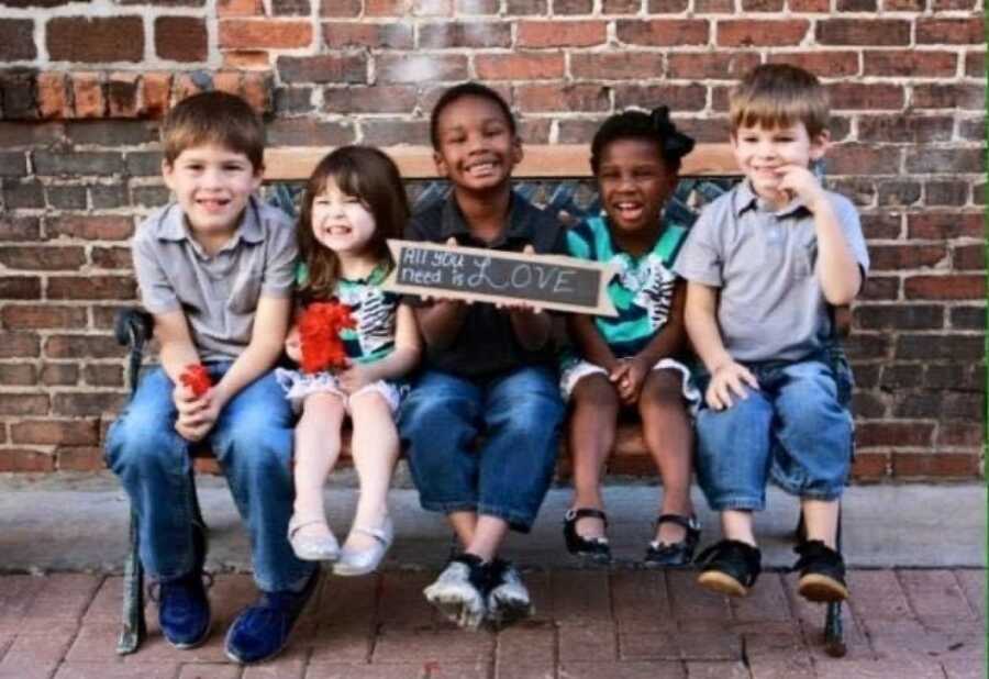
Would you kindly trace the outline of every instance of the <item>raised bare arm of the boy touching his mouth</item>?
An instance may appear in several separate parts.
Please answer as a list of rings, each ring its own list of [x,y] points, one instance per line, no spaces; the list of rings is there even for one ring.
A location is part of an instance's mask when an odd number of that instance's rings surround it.
[[[818,232],[818,279],[830,304],[847,304],[862,288],[862,270],[818,178],[797,165],[780,169],[780,189],[796,193],[814,215]]]

